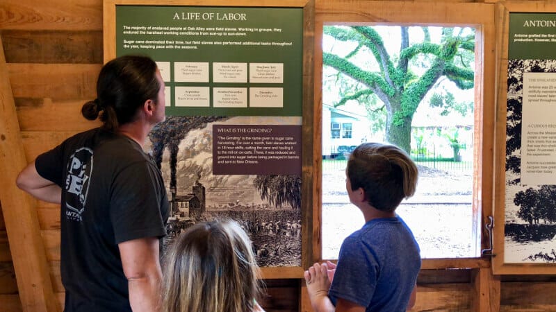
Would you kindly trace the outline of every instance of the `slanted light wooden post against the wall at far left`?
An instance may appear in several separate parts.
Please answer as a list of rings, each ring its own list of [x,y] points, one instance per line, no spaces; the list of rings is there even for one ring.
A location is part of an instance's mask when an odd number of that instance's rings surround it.
[[[26,165],[0,37],[0,202],[23,311],[60,311],[50,280],[33,200],[15,185]]]

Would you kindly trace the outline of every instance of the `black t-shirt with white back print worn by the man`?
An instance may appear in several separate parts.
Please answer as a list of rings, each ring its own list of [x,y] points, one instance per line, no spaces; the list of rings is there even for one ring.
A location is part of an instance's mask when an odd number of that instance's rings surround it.
[[[131,311],[117,244],[166,234],[168,200],[156,164],[136,141],[93,129],[38,156],[35,167],[62,188],[65,311]]]

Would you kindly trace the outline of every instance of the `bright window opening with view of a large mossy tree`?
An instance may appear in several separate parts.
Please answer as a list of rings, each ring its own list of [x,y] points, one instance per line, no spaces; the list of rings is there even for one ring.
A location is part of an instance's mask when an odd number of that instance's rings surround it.
[[[402,33],[408,42],[402,42]],[[382,50],[365,41],[369,34],[379,37],[374,42],[384,42],[386,67],[373,55]],[[439,76],[423,89],[427,82],[420,78],[439,69],[430,51],[448,51],[452,39],[459,45],[448,62],[459,70],[457,77]],[[361,211],[350,204],[345,191],[346,159],[363,141],[398,145],[416,162],[417,192],[396,212],[414,232],[423,258],[479,256],[480,209],[473,209],[472,192],[474,44],[473,28],[325,26],[322,98],[327,101],[322,103],[322,124],[341,125],[341,133],[332,130],[327,137],[328,131],[322,132],[323,259],[337,259],[343,239],[363,225]],[[419,50],[425,46],[430,49]],[[400,52],[409,47],[417,53]],[[404,57],[407,60],[401,60]],[[349,66],[338,65],[346,63]],[[350,73],[354,68],[368,77]]]

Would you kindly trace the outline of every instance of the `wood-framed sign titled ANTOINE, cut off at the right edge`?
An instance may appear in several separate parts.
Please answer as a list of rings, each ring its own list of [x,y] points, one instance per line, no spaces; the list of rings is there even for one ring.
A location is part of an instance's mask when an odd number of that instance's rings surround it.
[[[507,50],[500,55],[507,55],[507,67],[500,81],[507,85],[498,116],[505,123],[497,126],[496,148],[505,151],[496,159],[504,180],[496,184],[496,207],[503,209],[495,216],[504,226],[495,227],[494,270],[556,272],[550,266],[556,263],[556,14],[504,12]]]

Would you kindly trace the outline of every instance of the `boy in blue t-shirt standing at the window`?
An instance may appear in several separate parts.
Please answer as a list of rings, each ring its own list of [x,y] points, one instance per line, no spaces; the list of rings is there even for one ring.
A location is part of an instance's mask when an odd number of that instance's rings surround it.
[[[420,250],[395,209],[414,195],[417,167],[396,146],[363,143],[345,172],[350,202],[366,223],[343,241],[337,266],[315,263],[304,272],[311,305],[316,312],[406,311],[415,303]]]

